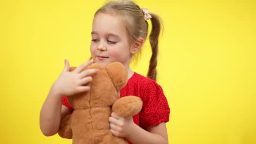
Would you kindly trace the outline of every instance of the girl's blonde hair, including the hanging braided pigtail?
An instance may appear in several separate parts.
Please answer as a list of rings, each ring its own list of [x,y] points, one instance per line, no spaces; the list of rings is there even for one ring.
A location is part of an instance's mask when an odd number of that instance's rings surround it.
[[[148,22],[144,20],[144,13],[140,7],[131,0],[110,1],[99,8],[97,13],[115,14],[125,24],[129,42],[134,44],[140,37],[146,40],[148,35]],[[152,56],[150,59],[147,77],[156,81],[157,71],[157,55],[158,55],[158,37],[160,34],[162,23],[159,16],[154,13],[151,15],[152,29],[149,36]]]

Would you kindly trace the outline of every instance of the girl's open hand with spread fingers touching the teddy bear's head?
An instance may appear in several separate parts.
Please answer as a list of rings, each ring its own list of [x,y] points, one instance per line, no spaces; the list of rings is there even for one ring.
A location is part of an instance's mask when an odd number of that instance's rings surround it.
[[[65,67],[53,84],[56,94],[62,97],[63,95],[69,96],[89,91],[90,87],[87,84],[92,81],[91,75],[98,72],[98,69],[82,70],[92,62],[92,60],[85,62],[72,72],[69,72],[69,62],[65,59]]]

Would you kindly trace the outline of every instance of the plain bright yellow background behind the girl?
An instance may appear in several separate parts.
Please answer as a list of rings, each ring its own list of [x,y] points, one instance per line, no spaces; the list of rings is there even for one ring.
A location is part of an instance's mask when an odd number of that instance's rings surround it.
[[[164,20],[158,83],[171,108],[170,144],[256,144],[255,0],[137,0]],[[64,59],[89,59],[104,0],[1,0],[0,143],[71,144],[45,137],[39,112]],[[132,69],[145,75],[144,50]]]

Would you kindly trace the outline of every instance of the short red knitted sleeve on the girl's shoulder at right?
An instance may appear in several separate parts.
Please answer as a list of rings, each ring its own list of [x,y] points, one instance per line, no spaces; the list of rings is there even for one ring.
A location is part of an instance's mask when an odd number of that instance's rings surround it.
[[[143,128],[169,121],[170,108],[163,89],[156,82],[148,83],[142,101],[140,123]]]

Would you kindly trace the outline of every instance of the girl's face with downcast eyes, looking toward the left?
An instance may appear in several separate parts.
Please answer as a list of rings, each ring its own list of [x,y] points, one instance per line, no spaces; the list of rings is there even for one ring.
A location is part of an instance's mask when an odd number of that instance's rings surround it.
[[[91,55],[95,63],[121,62],[129,67],[131,45],[125,26],[115,15],[97,13],[92,24]]]

